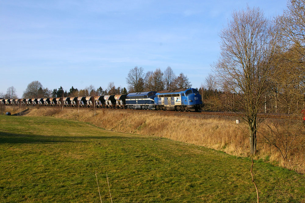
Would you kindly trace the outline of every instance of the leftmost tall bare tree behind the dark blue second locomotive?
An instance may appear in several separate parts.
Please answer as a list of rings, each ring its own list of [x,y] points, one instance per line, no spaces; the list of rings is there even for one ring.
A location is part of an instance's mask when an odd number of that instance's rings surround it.
[[[129,92],[142,92],[144,89],[144,69],[142,67],[134,67],[127,75],[126,82]]]

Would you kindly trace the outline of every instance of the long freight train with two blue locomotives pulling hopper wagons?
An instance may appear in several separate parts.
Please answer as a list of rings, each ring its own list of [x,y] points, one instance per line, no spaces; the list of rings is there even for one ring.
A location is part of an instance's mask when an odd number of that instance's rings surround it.
[[[160,92],[135,92],[120,95],[79,96],[58,98],[0,99],[5,105],[64,106],[146,109],[159,111],[199,111],[202,97],[194,88]]]

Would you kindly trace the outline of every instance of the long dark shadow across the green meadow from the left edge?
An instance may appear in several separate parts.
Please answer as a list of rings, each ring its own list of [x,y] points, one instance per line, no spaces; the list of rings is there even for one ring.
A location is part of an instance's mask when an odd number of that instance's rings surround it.
[[[38,143],[88,143],[92,141],[117,139],[144,139],[126,136],[45,136],[0,132],[0,144],[38,144]]]

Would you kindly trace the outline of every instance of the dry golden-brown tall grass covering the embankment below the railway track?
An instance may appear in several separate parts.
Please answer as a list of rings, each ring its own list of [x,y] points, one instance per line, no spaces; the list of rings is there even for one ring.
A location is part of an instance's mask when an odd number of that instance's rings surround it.
[[[155,111],[124,111],[98,109],[96,116],[92,109],[41,107],[33,109],[28,116],[52,116],[70,120],[89,122],[106,130],[159,136],[185,143],[200,145],[224,151],[242,157],[250,157],[249,138],[246,125],[236,124],[235,120],[223,118],[190,117]],[[132,121],[132,122],[131,122]],[[264,143],[263,136],[258,136],[256,159],[263,158],[275,165],[305,173],[304,150],[293,151],[290,159],[284,161],[278,150]]]

